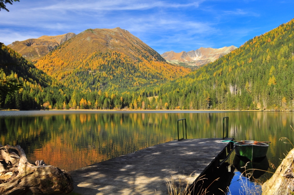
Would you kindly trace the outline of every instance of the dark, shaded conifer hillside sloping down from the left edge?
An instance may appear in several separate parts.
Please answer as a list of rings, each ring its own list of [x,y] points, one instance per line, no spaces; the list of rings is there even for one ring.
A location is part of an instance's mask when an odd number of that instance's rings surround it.
[[[58,81],[4,45],[0,48],[0,64],[4,67],[4,71],[0,73],[1,79],[16,78],[22,85],[19,91],[12,94],[2,94],[4,92],[1,91],[0,107],[29,110],[42,109],[45,105],[48,109],[56,101],[69,101],[70,96],[64,93],[65,88]]]

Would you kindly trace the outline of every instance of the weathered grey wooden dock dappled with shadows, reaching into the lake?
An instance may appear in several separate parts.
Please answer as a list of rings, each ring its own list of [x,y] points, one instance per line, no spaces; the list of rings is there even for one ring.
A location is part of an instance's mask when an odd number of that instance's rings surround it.
[[[189,185],[230,151],[221,138],[184,139],[151,146],[71,171],[79,194],[168,194],[167,181]],[[232,140],[228,138],[226,140]],[[191,175],[191,176],[190,176]]]

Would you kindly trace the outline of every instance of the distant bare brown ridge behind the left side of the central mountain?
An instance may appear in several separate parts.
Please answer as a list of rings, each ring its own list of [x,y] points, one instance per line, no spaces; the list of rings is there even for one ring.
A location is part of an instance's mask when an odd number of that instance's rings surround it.
[[[8,47],[14,49],[28,60],[36,60],[53,51],[64,41],[74,37],[75,33],[66,33],[57,36],[41,36],[30,38],[25,41],[14,41]]]

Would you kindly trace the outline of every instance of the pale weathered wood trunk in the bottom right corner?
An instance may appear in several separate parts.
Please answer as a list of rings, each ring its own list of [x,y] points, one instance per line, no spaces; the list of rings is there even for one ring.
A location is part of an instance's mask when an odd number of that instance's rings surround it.
[[[263,195],[288,195],[294,191],[294,149],[292,149],[273,176],[262,185]]]

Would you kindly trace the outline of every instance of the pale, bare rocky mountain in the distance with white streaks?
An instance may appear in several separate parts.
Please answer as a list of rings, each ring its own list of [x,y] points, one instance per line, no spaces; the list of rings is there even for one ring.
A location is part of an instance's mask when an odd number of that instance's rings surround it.
[[[190,66],[200,66],[210,62],[214,62],[221,56],[235,50],[237,47],[229,46],[222,47],[219,49],[214,48],[199,48],[192,51],[182,51],[176,53],[174,51],[167,51],[161,56],[166,59],[169,63],[179,64],[179,65],[190,65]]]

